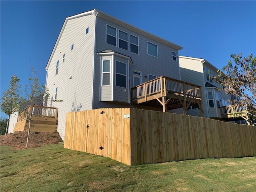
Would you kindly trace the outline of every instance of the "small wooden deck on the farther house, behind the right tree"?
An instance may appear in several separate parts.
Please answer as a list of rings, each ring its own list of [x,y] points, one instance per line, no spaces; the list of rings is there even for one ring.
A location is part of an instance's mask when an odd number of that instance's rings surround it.
[[[235,120],[238,118],[242,118],[247,120],[248,125],[254,125],[256,123],[256,109],[252,106],[240,106],[229,105],[221,107],[222,110],[222,118],[226,120]]]

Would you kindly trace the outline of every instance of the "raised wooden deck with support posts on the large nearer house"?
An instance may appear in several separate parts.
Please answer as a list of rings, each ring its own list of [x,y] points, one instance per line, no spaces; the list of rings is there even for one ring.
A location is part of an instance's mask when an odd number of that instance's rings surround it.
[[[203,116],[202,92],[198,85],[161,76],[133,87],[131,94],[132,104],[163,108],[163,112],[183,108],[184,114],[189,106],[197,105]]]

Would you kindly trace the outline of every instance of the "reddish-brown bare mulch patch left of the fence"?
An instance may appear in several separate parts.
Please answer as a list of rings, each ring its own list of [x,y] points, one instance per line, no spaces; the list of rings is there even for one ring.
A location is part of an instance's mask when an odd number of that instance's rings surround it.
[[[28,131],[18,131],[0,136],[0,146],[13,146],[12,150],[35,148],[48,144],[63,142],[58,132],[32,131],[26,147]]]

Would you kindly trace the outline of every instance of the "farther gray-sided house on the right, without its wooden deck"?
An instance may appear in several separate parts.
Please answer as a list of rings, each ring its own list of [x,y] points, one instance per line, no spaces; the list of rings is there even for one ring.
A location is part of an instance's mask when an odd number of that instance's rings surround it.
[[[205,59],[179,56],[180,76],[182,81],[202,86],[202,106],[204,117],[222,119],[221,107],[229,106],[231,96],[219,91],[220,84],[207,78],[208,71],[212,76],[217,75],[217,68]],[[200,116],[196,106],[190,106],[187,114]],[[239,123],[239,122],[238,122]]]

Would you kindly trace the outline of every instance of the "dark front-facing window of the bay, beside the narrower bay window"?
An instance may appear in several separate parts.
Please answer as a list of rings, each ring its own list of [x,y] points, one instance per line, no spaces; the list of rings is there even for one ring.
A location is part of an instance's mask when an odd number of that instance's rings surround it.
[[[126,63],[116,61],[116,86],[126,88]]]

